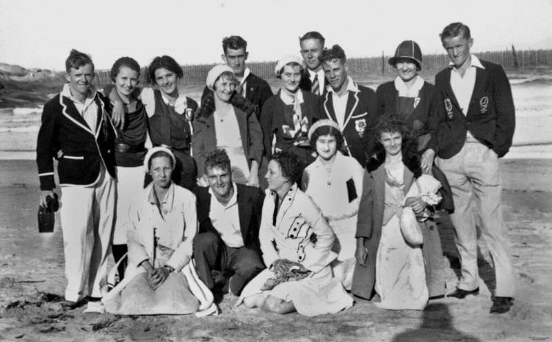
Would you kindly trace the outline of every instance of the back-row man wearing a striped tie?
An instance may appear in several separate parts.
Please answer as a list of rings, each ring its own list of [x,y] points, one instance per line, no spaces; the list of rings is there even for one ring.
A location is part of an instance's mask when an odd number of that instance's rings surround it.
[[[328,80],[322,70],[322,62],[319,57],[324,50],[324,36],[317,31],[310,31],[299,37],[301,55],[306,63],[306,72],[303,74],[299,88],[305,92],[313,92],[317,95],[326,94]]]

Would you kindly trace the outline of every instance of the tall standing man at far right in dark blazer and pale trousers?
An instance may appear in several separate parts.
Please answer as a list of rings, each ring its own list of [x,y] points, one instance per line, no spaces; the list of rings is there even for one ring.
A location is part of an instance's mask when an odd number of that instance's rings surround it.
[[[451,184],[455,205],[451,220],[462,268],[449,296],[463,299],[479,292],[475,204],[496,276],[491,313],[500,314],[510,310],[517,278],[506,247],[498,162],[508,152],[515,128],[511,87],[501,66],[470,53],[473,39],[468,26],[451,23],[440,37],[451,64],[435,76],[435,162]]]

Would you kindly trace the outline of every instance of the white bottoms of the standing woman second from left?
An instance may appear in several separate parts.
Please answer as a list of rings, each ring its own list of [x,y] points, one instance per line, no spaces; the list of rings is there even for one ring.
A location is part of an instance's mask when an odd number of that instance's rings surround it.
[[[144,189],[144,166],[135,168],[117,166],[117,214],[113,232],[114,245],[126,245],[130,201],[141,189]]]

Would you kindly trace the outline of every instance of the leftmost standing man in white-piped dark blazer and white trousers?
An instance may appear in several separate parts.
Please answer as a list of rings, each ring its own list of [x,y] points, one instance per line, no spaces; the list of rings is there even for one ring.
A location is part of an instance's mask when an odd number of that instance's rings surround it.
[[[107,102],[92,87],[94,64],[72,50],[66,60],[67,82],[44,105],[37,139],[40,203],[53,197],[54,158],[61,185],[61,230],[67,288],[63,306],[75,308],[90,296],[85,312],[103,312],[107,258],[115,209],[116,132]]]

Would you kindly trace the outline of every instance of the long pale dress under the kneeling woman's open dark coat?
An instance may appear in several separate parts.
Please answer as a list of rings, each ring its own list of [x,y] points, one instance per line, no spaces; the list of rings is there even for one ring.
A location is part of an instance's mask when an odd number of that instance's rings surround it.
[[[375,291],[382,301],[375,305],[391,310],[423,310],[429,294],[422,248],[408,245],[400,229],[404,165],[386,166],[386,172],[384,225],[375,269]]]

